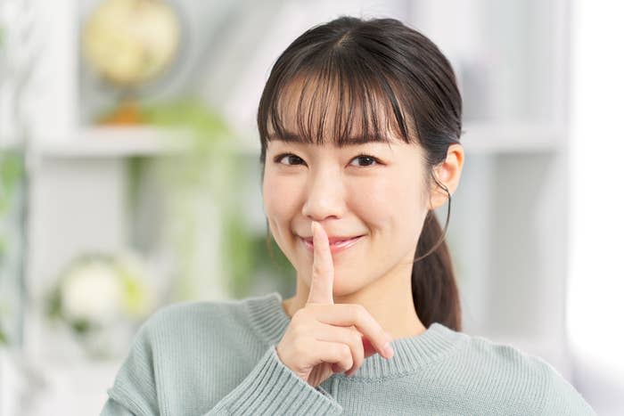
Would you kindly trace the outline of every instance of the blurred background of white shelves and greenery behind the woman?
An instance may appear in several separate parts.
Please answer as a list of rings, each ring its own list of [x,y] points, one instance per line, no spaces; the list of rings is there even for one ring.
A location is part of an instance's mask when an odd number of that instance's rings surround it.
[[[456,69],[464,332],[622,414],[624,30],[604,4],[0,0],[0,416],[99,413],[162,306],[294,293],[255,111],[279,53],[341,14],[403,20]]]

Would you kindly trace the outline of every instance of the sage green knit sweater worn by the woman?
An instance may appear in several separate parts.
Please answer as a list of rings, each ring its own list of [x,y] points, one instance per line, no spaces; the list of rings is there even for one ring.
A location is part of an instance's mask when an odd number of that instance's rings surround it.
[[[352,376],[311,387],[275,353],[290,317],[278,292],[180,302],[144,322],[103,415],[595,414],[546,361],[434,322]]]

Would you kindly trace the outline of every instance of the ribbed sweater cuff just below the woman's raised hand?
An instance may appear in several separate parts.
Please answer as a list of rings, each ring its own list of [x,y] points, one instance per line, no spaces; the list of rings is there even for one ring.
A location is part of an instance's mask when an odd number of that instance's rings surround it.
[[[323,387],[312,387],[286,367],[270,346],[250,374],[210,413],[341,414],[342,406]],[[209,413],[209,414],[210,414]]]

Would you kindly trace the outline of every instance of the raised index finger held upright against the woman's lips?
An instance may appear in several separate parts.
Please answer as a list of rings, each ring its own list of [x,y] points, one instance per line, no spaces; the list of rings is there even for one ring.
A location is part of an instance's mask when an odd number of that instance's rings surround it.
[[[312,221],[314,260],[308,303],[333,304],[333,259],[329,239],[321,224]]]

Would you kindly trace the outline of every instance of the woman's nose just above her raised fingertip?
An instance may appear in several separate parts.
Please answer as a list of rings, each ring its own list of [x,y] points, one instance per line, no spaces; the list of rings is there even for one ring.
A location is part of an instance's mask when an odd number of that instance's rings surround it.
[[[304,216],[320,222],[328,217],[340,218],[344,209],[344,186],[339,173],[325,169],[309,176],[301,210]]]

